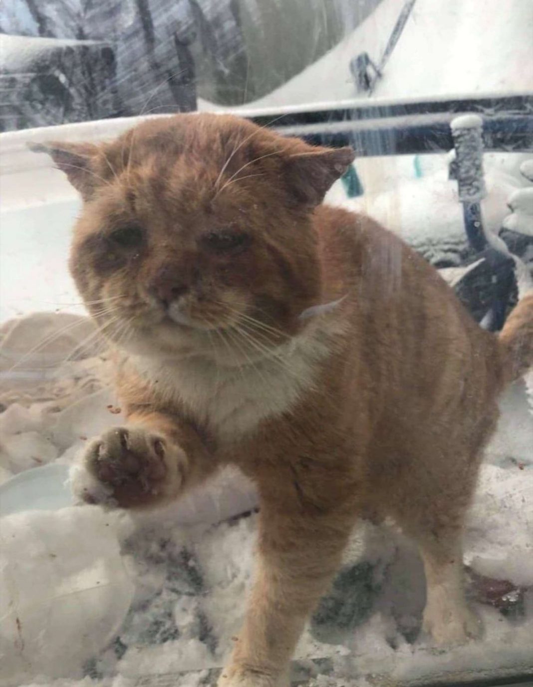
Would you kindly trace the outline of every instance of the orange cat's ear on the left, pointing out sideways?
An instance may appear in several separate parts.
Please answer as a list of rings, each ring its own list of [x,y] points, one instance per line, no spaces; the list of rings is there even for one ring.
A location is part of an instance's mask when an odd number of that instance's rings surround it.
[[[87,200],[93,194],[98,175],[92,169],[98,146],[92,143],[30,143],[27,146],[34,153],[47,153],[58,169],[67,174],[70,183]]]

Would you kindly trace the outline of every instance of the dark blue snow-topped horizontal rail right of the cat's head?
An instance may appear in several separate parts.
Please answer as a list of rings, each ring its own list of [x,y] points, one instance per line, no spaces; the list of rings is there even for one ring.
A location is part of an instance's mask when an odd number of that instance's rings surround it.
[[[454,147],[450,124],[457,115],[484,118],[484,150],[533,150],[533,94],[484,95],[424,102],[377,102],[326,109],[241,112],[280,133],[332,146],[352,145],[360,157],[438,153]]]

